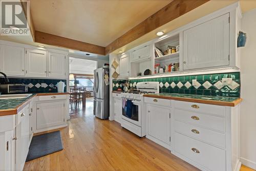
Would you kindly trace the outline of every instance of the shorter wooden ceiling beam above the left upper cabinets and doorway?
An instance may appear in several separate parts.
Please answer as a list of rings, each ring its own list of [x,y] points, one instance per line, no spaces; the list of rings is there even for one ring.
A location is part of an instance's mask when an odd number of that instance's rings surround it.
[[[99,55],[105,55],[104,47],[39,31],[35,31],[35,42],[78,51],[95,53]]]

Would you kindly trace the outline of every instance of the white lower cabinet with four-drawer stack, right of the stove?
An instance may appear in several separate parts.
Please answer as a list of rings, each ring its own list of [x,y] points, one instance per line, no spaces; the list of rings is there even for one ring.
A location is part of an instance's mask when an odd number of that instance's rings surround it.
[[[146,138],[201,170],[239,170],[239,104],[145,97]]]

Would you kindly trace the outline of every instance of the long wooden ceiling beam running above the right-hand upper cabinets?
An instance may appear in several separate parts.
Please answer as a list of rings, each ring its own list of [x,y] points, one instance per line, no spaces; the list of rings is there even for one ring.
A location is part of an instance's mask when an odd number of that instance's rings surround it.
[[[118,48],[136,40],[137,38],[151,32],[158,27],[178,18],[179,16],[203,5],[209,0],[174,0],[155,14],[151,15],[139,25],[117,38],[110,45],[106,46],[105,54],[109,54]]]

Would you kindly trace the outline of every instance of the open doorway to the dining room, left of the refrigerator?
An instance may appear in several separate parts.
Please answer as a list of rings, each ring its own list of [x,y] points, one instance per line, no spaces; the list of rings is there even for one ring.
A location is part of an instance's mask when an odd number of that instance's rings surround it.
[[[70,119],[93,114],[94,70],[97,61],[69,58]]]

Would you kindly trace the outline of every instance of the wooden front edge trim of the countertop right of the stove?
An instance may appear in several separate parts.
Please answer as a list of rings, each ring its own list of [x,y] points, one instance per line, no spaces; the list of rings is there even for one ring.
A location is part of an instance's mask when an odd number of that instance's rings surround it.
[[[188,102],[213,104],[213,105],[223,105],[223,106],[231,106],[231,107],[236,106],[237,104],[242,102],[242,98],[238,98],[237,100],[228,102],[228,101],[203,100],[203,99],[193,99],[193,98],[184,98],[184,97],[161,96],[161,95],[154,95],[154,94],[145,94],[144,97],[188,101]]]

